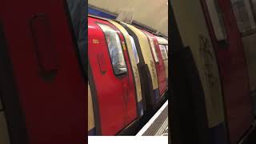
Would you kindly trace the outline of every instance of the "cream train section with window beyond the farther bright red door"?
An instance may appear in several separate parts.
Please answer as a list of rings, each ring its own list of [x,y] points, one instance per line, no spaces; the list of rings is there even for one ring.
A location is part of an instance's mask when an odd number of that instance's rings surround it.
[[[162,59],[165,64],[166,79],[168,83],[168,40],[162,37],[156,37],[158,39],[159,48],[161,51]],[[166,49],[166,50],[164,50]]]

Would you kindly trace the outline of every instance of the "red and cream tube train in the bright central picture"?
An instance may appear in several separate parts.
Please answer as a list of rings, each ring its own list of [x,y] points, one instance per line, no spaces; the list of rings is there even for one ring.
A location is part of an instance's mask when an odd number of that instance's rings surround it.
[[[168,90],[168,41],[88,16],[88,134],[131,134]]]

